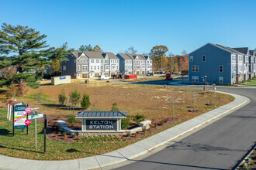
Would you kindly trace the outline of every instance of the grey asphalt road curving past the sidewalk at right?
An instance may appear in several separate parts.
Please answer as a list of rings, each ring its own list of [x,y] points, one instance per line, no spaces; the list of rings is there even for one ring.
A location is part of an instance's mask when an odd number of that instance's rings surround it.
[[[117,169],[231,169],[256,141],[256,89],[222,88],[251,103],[147,158]]]

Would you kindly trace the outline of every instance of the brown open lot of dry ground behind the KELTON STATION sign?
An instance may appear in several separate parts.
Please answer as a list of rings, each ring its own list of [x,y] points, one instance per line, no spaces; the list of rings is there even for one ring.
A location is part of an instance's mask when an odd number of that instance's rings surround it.
[[[202,90],[196,91],[195,109],[199,112],[189,112],[193,107],[192,92],[188,89],[176,87],[157,87],[134,85],[129,83],[106,83],[102,81],[92,81],[90,83],[80,83],[79,81],[57,86],[42,85],[39,89],[29,89],[25,97],[25,104],[30,107],[36,107],[35,93],[43,93],[41,112],[51,116],[67,115],[67,107],[58,104],[58,94],[64,89],[68,94],[72,90],[78,90],[88,93],[92,103],[91,107],[96,110],[110,110],[113,103],[117,103],[119,110],[126,111],[128,117],[136,114],[144,114],[147,119],[155,121],[171,117],[171,94],[175,96],[175,117],[182,121],[189,120],[199,114],[213,110],[215,107],[227,104],[234,100],[227,94],[211,93],[212,104],[209,104],[209,92],[202,93]],[[30,98],[30,99],[29,99]],[[19,98],[22,100],[22,98]],[[76,108],[76,114],[81,108]]]

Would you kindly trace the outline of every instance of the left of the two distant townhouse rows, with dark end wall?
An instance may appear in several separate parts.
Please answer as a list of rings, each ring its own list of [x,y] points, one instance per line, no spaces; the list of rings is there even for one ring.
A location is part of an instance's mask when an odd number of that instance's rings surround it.
[[[119,59],[113,53],[74,50],[61,64],[62,75],[83,79],[119,73]]]

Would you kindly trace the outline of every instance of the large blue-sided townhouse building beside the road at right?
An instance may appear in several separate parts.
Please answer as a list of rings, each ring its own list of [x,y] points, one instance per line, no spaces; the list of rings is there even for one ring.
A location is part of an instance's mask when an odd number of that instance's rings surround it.
[[[206,45],[189,53],[189,83],[232,84],[247,78],[247,57],[236,49]]]

